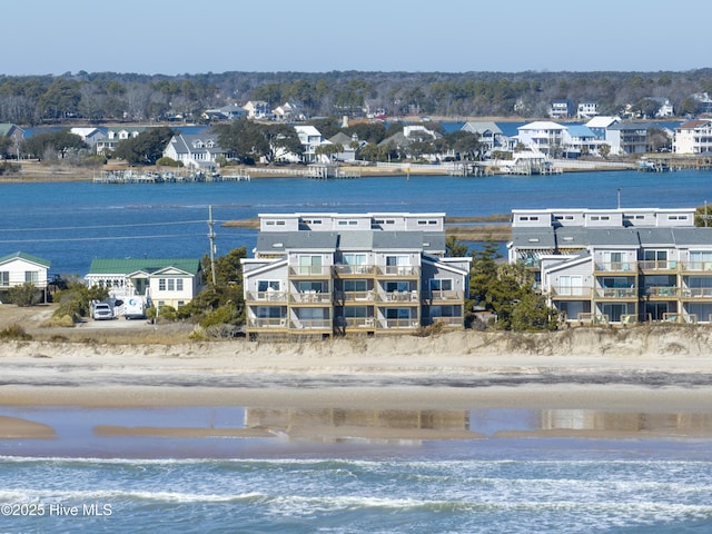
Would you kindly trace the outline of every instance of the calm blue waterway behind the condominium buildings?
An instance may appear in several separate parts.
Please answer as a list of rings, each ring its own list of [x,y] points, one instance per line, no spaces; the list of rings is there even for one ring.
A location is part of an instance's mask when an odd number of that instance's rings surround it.
[[[218,255],[256,243],[227,220],[260,212],[442,211],[507,214],[513,208],[689,207],[712,199],[712,174],[581,172],[552,177],[303,178],[250,182],[0,185],[0,255],[18,250],[52,263],[52,274],[85,275],[95,257],[202,257],[212,206]]]

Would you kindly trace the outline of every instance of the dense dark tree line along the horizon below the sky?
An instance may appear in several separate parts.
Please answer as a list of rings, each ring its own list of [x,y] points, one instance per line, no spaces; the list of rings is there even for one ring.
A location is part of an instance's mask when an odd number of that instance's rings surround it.
[[[712,69],[684,72],[224,72],[181,76],[80,71],[0,76],[0,122],[37,126],[78,120],[199,122],[202,111],[248,100],[305,115],[390,117],[545,117],[553,100],[593,100],[602,115],[632,106],[650,113],[668,98],[676,115],[709,111]]]

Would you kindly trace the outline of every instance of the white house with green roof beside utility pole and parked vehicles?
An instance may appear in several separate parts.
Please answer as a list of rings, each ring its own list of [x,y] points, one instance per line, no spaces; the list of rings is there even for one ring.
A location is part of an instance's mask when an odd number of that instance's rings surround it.
[[[116,298],[141,296],[179,308],[202,289],[202,266],[197,258],[95,258],[85,280]]]

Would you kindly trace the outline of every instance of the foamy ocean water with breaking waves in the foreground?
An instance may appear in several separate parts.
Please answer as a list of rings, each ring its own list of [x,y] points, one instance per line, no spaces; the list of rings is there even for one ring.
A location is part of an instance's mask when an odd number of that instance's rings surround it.
[[[646,455],[640,448],[596,445],[507,452],[501,444],[495,454],[459,444],[239,459],[0,457],[0,532],[712,530],[709,457],[640,458]],[[66,515],[72,510],[77,515]]]

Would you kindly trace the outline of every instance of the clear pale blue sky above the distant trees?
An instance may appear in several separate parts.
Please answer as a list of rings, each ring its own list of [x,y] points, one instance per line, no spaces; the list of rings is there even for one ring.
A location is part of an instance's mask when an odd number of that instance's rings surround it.
[[[8,76],[712,66],[709,0],[21,0],[0,17]]]

